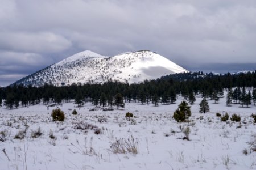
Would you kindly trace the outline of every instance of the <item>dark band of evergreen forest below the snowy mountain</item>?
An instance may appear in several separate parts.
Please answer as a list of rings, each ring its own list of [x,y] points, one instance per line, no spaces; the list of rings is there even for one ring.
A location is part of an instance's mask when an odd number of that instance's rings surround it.
[[[106,82],[104,84],[71,84],[71,86],[56,87],[44,84],[42,87],[12,86],[0,87],[0,105],[13,109],[19,106],[27,107],[34,104],[61,104],[74,101],[78,107],[86,102],[93,105],[117,105],[117,94],[126,103],[141,103],[154,105],[173,104],[177,97],[183,97],[193,105],[195,96],[203,97],[205,101],[214,100],[218,103],[220,97],[226,95],[226,104],[241,104],[248,107],[256,103],[256,71],[241,74],[204,74],[179,73],[163,76],[156,80],[144,80],[141,83]],[[121,96],[120,96],[121,95]],[[119,99],[119,100],[121,100]],[[123,104],[121,104],[122,106]],[[119,104],[118,104],[119,107]]]

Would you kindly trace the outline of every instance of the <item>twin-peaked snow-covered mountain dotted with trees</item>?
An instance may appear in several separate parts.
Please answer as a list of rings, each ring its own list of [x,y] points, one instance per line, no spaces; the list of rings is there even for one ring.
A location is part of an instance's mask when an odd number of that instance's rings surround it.
[[[126,52],[113,57],[86,50],[15,82],[42,86],[72,83],[104,83],[108,80],[138,83],[146,79],[188,72],[169,59],[148,50]]]

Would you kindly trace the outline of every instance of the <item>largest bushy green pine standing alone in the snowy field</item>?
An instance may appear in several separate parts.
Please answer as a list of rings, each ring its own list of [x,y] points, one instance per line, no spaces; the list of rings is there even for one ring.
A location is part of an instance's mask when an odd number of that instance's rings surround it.
[[[174,119],[177,122],[185,122],[187,118],[191,116],[191,110],[187,101],[181,101],[177,110],[174,112]]]

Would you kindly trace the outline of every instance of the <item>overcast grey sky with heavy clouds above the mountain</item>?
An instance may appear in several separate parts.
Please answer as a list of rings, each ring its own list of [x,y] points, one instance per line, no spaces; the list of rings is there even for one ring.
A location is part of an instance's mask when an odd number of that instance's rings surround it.
[[[141,49],[189,71],[256,70],[256,1],[0,0],[0,86],[83,50]]]

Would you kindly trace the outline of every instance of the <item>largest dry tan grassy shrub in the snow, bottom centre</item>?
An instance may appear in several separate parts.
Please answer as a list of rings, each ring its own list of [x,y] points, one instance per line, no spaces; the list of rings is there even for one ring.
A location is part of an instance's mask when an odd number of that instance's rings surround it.
[[[116,139],[115,142],[110,143],[110,151],[114,154],[138,154],[138,141],[133,135],[130,138]]]

